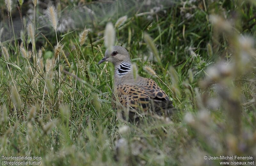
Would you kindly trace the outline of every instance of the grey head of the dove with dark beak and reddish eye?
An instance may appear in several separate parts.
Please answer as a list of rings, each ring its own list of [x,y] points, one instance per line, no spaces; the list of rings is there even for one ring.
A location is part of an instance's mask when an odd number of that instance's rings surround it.
[[[128,51],[121,46],[113,46],[112,51],[106,50],[104,58],[99,61],[98,65],[104,61],[113,63],[114,65],[119,64],[122,61],[131,61]]]

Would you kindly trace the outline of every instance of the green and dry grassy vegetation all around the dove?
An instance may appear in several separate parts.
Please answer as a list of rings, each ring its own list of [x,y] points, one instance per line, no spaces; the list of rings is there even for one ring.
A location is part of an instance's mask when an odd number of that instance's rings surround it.
[[[1,155],[42,156],[43,165],[220,165],[205,155],[255,160],[254,0],[0,4]],[[97,65],[108,22],[140,76],[150,77],[144,65],[156,71],[152,79],[180,109],[171,120],[134,125],[116,117],[113,65]]]

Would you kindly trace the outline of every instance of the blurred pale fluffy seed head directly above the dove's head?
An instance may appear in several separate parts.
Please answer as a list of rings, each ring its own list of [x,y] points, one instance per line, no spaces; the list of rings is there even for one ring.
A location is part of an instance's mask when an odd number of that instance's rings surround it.
[[[112,23],[107,24],[104,36],[105,36],[105,46],[109,49],[109,52],[111,52],[116,39],[116,33]]]

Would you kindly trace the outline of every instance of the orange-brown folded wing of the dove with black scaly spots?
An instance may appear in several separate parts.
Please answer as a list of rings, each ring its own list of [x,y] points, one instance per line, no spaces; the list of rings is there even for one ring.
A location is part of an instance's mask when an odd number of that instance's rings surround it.
[[[145,82],[136,85],[119,84],[114,93],[116,96],[113,96],[112,106],[116,109],[121,109],[120,105],[116,104],[116,98],[124,107],[129,105],[135,110],[141,106],[144,111],[150,108],[151,111],[158,113],[173,108],[172,101],[166,93],[151,79],[145,79]]]

